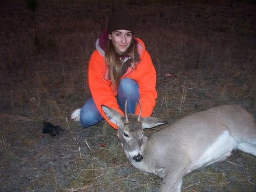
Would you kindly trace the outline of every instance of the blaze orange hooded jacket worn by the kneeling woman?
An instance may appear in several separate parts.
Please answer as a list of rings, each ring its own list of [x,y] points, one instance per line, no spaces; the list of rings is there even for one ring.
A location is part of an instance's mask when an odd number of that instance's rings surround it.
[[[135,63],[136,69],[133,67],[128,68],[121,79],[128,77],[134,79],[138,83],[142,106],[141,117],[148,117],[151,116],[156,104],[156,70],[150,54],[145,50],[143,41],[139,38],[136,38],[136,40],[138,42],[137,49],[141,60]],[[97,49],[92,53],[89,61],[89,88],[96,107],[102,117],[114,127],[114,129],[117,129],[117,125],[110,122],[101,109],[101,105],[104,104],[123,114],[123,111],[119,108],[117,103],[116,93],[113,91],[114,89],[108,76],[108,67],[105,65],[104,52],[97,47],[97,42],[96,48]],[[139,114],[139,109],[140,106],[138,104],[135,114]]]

